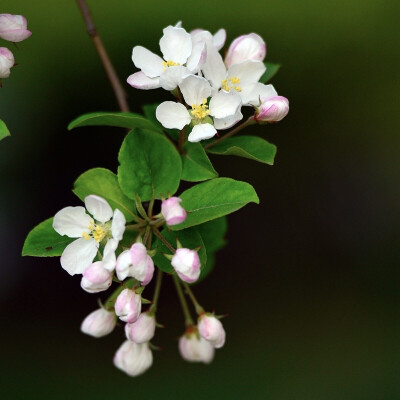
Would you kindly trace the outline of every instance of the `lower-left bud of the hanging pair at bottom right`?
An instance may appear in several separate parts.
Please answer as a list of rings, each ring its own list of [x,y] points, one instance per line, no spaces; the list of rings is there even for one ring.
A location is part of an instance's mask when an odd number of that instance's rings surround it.
[[[195,332],[185,333],[179,339],[179,352],[189,362],[209,364],[214,358],[214,347]]]

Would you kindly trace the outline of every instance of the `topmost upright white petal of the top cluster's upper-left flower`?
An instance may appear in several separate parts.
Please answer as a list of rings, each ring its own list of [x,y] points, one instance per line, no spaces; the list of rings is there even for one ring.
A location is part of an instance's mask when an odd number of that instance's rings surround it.
[[[160,39],[160,49],[166,61],[173,61],[180,65],[192,52],[192,38],[183,28],[167,26],[163,30],[164,36]],[[147,75],[147,74],[146,74]]]

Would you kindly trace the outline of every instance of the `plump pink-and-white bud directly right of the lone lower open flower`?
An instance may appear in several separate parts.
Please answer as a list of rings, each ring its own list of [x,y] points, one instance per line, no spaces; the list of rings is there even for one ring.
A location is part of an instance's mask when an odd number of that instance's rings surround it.
[[[142,243],[135,243],[130,250],[125,250],[118,256],[116,271],[121,281],[131,276],[142,285],[147,285],[153,278],[154,263],[147,254],[146,247]]]

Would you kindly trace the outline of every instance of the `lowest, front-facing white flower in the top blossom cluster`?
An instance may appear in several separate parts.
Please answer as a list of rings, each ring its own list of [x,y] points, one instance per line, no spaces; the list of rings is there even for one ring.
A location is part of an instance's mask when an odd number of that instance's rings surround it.
[[[156,117],[165,128],[170,129],[182,129],[191,123],[193,129],[188,138],[189,142],[210,139],[217,133],[217,129],[229,128],[243,117],[240,114],[241,99],[233,92],[220,91],[212,96],[207,104],[212,90],[208,81],[202,77],[187,76],[179,88],[191,110],[181,103],[165,101],[157,107]],[[238,110],[240,117],[237,119]],[[228,120],[231,120],[229,124],[226,122]],[[225,126],[222,121],[225,121]]]

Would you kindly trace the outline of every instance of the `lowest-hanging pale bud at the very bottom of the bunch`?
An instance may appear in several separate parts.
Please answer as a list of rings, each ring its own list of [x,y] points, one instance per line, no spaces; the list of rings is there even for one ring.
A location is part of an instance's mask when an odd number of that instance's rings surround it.
[[[138,376],[153,364],[153,354],[147,343],[126,340],[114,356],[114,365],[129,376]]]

